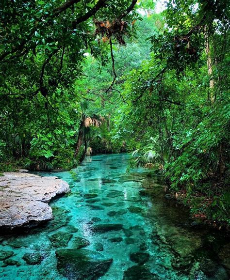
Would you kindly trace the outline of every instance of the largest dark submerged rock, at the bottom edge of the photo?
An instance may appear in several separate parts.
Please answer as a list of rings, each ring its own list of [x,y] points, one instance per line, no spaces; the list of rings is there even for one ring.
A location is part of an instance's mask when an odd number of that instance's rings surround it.
[[[104,260],[83,249],[57,250],[56,257],[58,271],[69,280],[96,280],[107,272],[113,262],[113,259]]]

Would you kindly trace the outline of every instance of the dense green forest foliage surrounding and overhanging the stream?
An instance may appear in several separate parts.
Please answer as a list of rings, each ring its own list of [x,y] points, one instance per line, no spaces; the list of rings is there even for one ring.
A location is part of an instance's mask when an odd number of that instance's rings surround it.
[[[196,217],[230,224],[227,1],[3,2],[1,170],[132,152]]]

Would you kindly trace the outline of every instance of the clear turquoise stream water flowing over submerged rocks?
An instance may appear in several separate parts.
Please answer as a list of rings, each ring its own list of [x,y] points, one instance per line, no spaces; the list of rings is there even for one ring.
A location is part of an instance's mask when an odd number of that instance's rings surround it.
[[[40,173],[66,180],[71,193],[50,202],[46,225],[0,237],[12,255],[0,261],[0,279],[229,279],[227,237],[191,225],[159,177],[126,173],[128,160],[92,156],[71,172]]]

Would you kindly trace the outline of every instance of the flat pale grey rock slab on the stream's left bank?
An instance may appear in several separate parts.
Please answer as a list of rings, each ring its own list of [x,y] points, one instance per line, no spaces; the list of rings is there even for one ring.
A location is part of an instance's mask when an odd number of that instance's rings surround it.
[[[58,177],[5,172],[0,177],[0,228],[34,226],[53,219],[48,202],[70,191]]]

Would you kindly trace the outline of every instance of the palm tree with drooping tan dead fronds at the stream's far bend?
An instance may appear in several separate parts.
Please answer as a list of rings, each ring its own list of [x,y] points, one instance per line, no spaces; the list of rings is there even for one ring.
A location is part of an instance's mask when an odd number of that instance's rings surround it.
[[[82,143],[84,142],[84,152],[83,155],[80,158],[80,162],[84,159],[86,153],[87,153],[87,138],[86,135],[90,132],[90,127],[99,127],[102,122],[104,121],[104,118],[100,115],[97,115],[96,111],[89,109],[89,102],[83,101],[81,103],[81,109],[82,109],[82,119],[80,122],[79,130],[78,130],[78,140],[75,148],[74,156],[76,157],[79,153],[79,150],[82,146]]]

